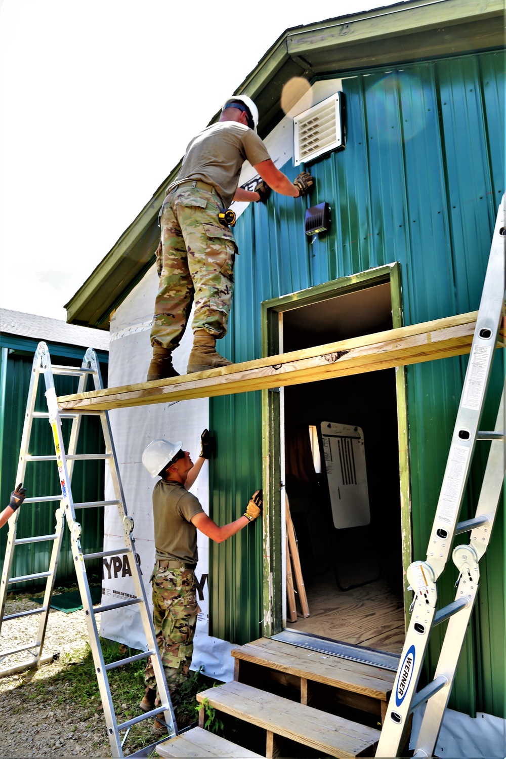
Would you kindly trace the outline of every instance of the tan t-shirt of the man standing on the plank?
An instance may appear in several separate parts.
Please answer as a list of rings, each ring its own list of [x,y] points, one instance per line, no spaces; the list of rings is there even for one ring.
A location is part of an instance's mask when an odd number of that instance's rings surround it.
[[[212,124],[193,137],[174,184],[187,179],[200,179],[212,184],[225,208],[228,208],[234,200],[244,161],[255,166],[270,157],[258,134],[245,124],[218,121],[218,124]]]

